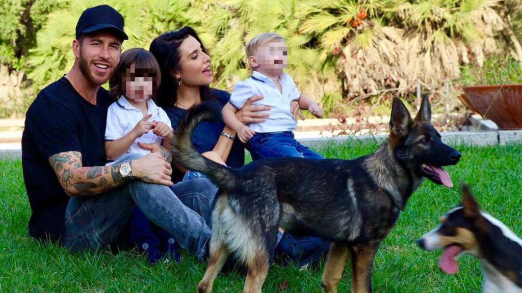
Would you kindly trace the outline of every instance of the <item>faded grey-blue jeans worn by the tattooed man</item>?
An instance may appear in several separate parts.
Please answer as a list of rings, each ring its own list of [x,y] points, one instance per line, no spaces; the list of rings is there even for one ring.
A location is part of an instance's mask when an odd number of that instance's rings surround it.
[[[215,185],[200,178],[171,187],[133,180],[97,196],[76,196],[67,205],[63,243],[72,252],[109,247],[137,205],[182,248],[204,260],[216,193]]]

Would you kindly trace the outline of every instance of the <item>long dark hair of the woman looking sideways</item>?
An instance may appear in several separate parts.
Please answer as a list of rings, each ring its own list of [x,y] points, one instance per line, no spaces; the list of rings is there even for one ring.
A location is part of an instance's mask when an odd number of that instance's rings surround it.
[[[178,84],[172,72],[181,70],[180,45],[189,35],[193,36],[201,44],[203,52],[208,55],[207,48],[205,48],[196,31],[191,27],[183,27],[177,31],[161,34],[150,43],[149,50],[158,60],[161,75],[163,76],[163,82],[156,95],[156,103],[160,107],[172,106],[177,101]],[[214,99],[209,86],[200,86],[199,95],[202,102]]]

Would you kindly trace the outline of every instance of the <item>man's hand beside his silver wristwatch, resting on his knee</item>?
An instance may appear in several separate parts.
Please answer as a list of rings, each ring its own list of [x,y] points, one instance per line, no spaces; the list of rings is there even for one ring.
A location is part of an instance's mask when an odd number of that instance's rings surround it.
[[[132,161],[133,177],[144,182],[172,186],[172,167],[159,153],[150,153]]]

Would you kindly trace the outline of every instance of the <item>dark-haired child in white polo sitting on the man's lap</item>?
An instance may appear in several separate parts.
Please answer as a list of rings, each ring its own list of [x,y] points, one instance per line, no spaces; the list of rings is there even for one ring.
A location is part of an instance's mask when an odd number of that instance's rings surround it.
[[[146,155],[138,142],[163,145],[170,149],[173,138],[170,119],[152,97],[161,82],[161,71],[154,56],[143,48],[132,48],[121,55],[120,65],[110,79],[111,94],[117,99],[109,106],[105,129],[105,154],[112,162]],[[179,247],[167,231],[149,222],[135,207],[128,221],[128,240],[146,252],[149,263],[163,254],[179,261]]]

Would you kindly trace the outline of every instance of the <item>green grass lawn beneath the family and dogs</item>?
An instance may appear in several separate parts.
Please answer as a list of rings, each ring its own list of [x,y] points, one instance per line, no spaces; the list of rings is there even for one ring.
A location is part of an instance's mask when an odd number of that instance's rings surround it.
[[[375,150],[376,145],[329,145],[326,157],[354,158]],[[522,145],[477,148],[458,146],[462,160],[447,167],[453,189],[424,181],[408,202],[396,228],[382,243],[373,269],[375,292],[478,292],[482,282],[476,259],[462,257],[460,270],[449,276],[438,268],[440,252],[425,252],[415,240],[437,224],[438,216],[458,204],[458,183],[471,185],[485,211],[522,234]],[[42,245],[28,236],[30,208],[23,185],[21,162],[0,160],[0,292],[194,292],[206,264],[186,253],[181,264],[147,265],[135,252],[85,252],[70,254],[64,248]],[[300,272],[296,267],[272,266],[264,291],[321,292],[319,267]],[[348,292],[350,272],[340,283]],[[215,292],[240,292],[244,277],[220,274]]]

